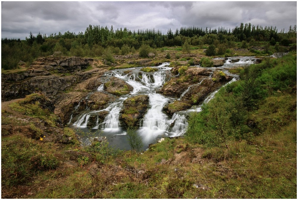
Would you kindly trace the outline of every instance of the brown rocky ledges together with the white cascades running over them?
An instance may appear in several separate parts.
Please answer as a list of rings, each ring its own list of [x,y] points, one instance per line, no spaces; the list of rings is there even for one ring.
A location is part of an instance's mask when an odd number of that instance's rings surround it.
[[[142,67],[152,66],[153,59],[133,59],[131,62]],[[184,134],[187,112],[200,111],[192,106],[209,101],[220,87],[237,76],[227,73],[226,65],[252,61],[239,58],[232,63],[228,58],[224,66],[217,68],[188,67],[185,76],[178,74],[179,67],[170,70],[170,63],[156,66],[156,72],[142,72],[142,67],[83,72],[88,62],[93,63],[92,59],[52,56],[37,59],[28,70],[1,74],[1,100],[44,94],[55,104],[55,114],[63,124],[86,133],[99,131],[111,145],[121,149],[130,148],[126,130],[134,127],[145,150],[162,137]],[[80,137],[88,143],[86,136]]]

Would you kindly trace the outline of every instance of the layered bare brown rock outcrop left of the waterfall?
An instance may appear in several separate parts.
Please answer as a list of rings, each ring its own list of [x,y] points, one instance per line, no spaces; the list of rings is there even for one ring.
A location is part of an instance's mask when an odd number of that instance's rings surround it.
[[[89,72],[80,72],[91,60],[80,57],[41,57],[30,65],[30,70],[1,74],[1,101],[24,98],[31,93],[42,93],[55,101],[58,93],[91,77]],[[57,73],[73,75],[60,76]]]

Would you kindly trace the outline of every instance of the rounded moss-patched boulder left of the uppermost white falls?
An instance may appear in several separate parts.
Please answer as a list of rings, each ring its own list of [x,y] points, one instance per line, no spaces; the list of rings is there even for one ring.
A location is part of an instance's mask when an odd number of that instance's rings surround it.
[[[134,90],[134,88],[131,85],[125,83],[125,81],[122,81],[116,77],[112,77],[110,81],[104,84],[104,90],[116,96],[121,96],[130,93],[132,90]]]

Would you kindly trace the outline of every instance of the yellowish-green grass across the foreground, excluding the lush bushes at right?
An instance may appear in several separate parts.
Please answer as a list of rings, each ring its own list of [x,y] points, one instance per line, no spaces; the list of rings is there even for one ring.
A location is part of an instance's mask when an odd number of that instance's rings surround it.
[[[39,120],[47,120],[48,129],[54,126],[56,116],[35,98],[10,104],[11,110],[35,121],[1,110],[1,125],[28,125],[37,134],[42,130]],[[271,91],[251,113],[258,123],[255,135],[217,147],[179,137],[165,138],[143,153],[115,153],[106,143],[81,147],[30,139],[25,133],[1,133],[1,197],[296,199],[296,98],[295,92]],[[61,130],[62,139],[76,137],[68,127]],[[66,150],[82,154],[71,158]],[[67,162],[73,165],[67,167]]]

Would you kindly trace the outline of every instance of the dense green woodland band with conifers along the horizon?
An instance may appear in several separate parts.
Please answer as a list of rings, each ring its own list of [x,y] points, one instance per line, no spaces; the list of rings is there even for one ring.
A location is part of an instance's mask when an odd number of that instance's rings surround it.
[[[238,45],[240,42],[240,46]],[[160,30],[137,30],[131,31],[127,28],[109,29],[107,26],[98,25],[86,28],[85,33],[65,32],[64,34],[42,35],[38,33],[34,36],[31,32],[25,40],[1,39],[1,68],[15,69],[19,61],[24,61],[29,66],[30,63],[39,56],[49,56],[56,51],[60,51],[65,56],[100,57],[112,54],[135,53],[142,45],[150,46],[152,49],[182,46],[201,46],[207,48],[217,48],[207,56],[229,55],[229,48],[241,47],[250,48],[253,46],[263,46],[263,52],[256,54],[270,54],[285,50],[297,49],[297,29],[296,25],[288,31],[280,30],[276,27],[254,26],[243,24],[235,28],[218,29],[181,27],[175,31],[169,29],[166,34]],[[253,50],[252,51],[256,51]],[[146,55],[145,55],[146,56]],[[111,56],[110,56],[111,57]]]

